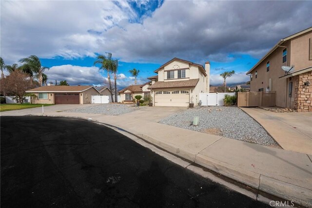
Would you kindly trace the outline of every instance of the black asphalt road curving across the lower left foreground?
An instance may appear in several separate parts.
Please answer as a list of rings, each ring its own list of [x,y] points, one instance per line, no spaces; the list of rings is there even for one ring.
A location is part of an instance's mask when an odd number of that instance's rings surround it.
[[[269,207],[93,122],[0,121],[1,208]]]

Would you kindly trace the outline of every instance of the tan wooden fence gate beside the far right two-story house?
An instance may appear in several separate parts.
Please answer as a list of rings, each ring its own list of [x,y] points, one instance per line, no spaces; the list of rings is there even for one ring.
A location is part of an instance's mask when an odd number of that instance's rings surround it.
[[[276,92],[238,92],[237,107],[275,106]]]

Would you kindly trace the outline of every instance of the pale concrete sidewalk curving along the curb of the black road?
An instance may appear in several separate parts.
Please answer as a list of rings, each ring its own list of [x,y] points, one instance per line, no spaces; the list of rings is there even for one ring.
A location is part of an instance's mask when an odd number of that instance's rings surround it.
[[[312,207],[312,155],[167,126],[143,114],[134,117],[133,113],[114,116],[47,112],[45,115],[92,118],[254,189]]]

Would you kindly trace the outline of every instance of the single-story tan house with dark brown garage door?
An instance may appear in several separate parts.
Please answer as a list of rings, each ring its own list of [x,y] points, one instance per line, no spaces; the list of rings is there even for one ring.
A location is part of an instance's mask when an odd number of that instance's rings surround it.
[[[34,104],[86,104],[92,95],[99,95],[93,86],[42,86],[26,91],[33,93]]]

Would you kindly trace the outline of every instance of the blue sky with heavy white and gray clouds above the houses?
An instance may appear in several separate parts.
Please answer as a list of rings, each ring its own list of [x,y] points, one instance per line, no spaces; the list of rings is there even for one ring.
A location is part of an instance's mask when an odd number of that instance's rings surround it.
[[[312,1],[1,0],[0,56],[6,64],[36,55],[49,80],[103,84],[93,63],[111,52],[119,59],[119,88],[156,75],[173,57],[211,62],[211,84],[235,70],[245,75],[278,40],[312,26]]]

